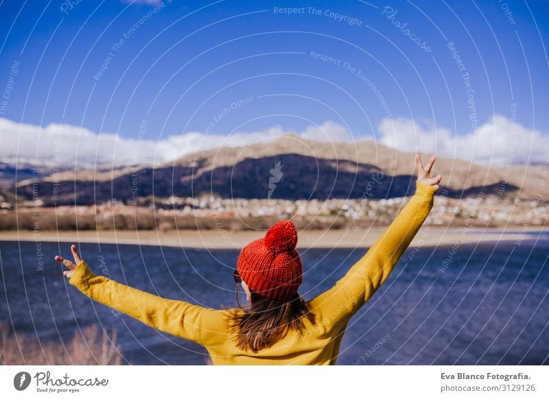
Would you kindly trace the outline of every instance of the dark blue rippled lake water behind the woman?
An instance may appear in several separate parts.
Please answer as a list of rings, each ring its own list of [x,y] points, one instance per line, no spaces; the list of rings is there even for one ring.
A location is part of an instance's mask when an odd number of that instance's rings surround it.
[[[441,271],[449,250],[407,250],[351,319],[338,364],[549,364],[548,241],[460,245]],[[0,242],[0,322],[40,341],[70,339],[75,329],[100,324],[117,329],[126,363],[207,362],[196,343],[115,316],[68,285],[53,261],[60,251],[70,256],[68,243],[43,243],[42,251],[40,270],[34,242]],[[217,309],[235,306],[235,250],[82,244],[80,251],[96,274],[132,287]],[[334,285],[364,250],[300,253],[300,293],[309,299]]]

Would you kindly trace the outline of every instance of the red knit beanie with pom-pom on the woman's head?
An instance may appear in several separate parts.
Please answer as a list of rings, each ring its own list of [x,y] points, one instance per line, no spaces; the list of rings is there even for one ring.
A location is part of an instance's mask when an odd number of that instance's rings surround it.
[[[297,230],[289,220],[277,221],[265,237],[246,245],[238,257],[238,274],[259,295],[290,299],[301,285],[303,265],[295,250]]]

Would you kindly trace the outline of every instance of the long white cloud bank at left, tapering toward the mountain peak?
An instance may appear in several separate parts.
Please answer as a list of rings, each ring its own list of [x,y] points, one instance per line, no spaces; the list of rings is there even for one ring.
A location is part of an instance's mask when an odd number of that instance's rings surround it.
[[[123,138],[116,134],[96,134],[80,126],[51,123],[42,128],[0,118],[0,161],[77,164],[80,167],[137,163],[159,165],[205,149],[268,142],[288,133],[276,125],[259,132],[235,132],[229,136],[187,132],[154,141],[145,139],[148,134],[146,125],[142,130],[138,138]],[[298,134],[311,140],[339,141],[345,138],[346,132],[337,123],[326,121],[318,127],[309,126]]]

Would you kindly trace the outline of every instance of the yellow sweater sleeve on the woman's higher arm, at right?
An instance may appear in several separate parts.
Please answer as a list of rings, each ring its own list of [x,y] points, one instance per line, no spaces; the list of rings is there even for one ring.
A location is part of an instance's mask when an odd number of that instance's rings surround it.
[[[332,322],[351,317],[371,298],[397,265],[428,216],[436,187],[416,181],[416,192],[393,223],[336,285],[311,301]]]

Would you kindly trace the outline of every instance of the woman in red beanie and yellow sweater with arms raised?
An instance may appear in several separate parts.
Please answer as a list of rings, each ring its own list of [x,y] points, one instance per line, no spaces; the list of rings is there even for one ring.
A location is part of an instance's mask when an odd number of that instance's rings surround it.
[[[279,221],[264,238],[246,245],[235,282],[248,309],[207,309],[168,300],[97,276],[71,246],[76,264],[69,283],[93,300],[177,337],[207,348],[215,365],[334,365],[349,319],[383,284],[429,214],[442,176],[430,178],[435,157],[424,168],[416,155],[416,192],[386,232],[347,274],[325,293],[305,302],[298,294],[303,273],[291,221]]]

